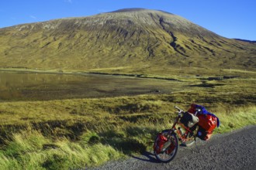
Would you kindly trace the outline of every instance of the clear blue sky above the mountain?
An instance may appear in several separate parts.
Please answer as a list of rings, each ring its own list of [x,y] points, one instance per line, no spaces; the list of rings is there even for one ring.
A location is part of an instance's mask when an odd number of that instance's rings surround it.
[[[163,10],[220,36],[256,40],[256,0],[1,0],[0,28],[120,8]]]

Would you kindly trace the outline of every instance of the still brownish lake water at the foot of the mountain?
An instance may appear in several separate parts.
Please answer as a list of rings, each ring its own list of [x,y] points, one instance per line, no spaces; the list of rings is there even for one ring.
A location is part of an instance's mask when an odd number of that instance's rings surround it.
[[[0,101],[110,97],[154,90],[171,82],[124,76],[0,72]]]

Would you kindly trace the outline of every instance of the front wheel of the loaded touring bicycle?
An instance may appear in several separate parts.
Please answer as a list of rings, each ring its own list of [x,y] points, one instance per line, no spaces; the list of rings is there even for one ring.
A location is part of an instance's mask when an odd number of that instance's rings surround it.
[[[168,136],[168,131],[169,130],[161,131],[161,135],[167,138],[167,141],[165,141],[165,143],[168,143],[168,146],[161,149],[161,151],[157,150],[157,147],[154,147],[154,155],[160,162],[171,162],[171,160],[173,160],[178,153],[178,138],[174,133]],[[159,140],[160,138],[158,135],[154,141],[154,146],[157,146],[157,144],[159,144]]]

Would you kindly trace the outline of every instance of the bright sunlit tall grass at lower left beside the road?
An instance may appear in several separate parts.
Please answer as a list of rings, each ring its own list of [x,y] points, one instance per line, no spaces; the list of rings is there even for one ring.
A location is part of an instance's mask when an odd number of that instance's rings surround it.
[[[43,137],[39,131],[21,131],[0,152],[1,169],[69,169],[99,165],[123,157],[109,145]]]

